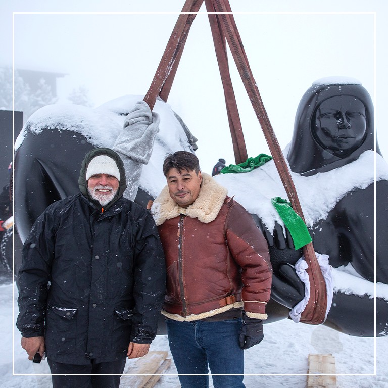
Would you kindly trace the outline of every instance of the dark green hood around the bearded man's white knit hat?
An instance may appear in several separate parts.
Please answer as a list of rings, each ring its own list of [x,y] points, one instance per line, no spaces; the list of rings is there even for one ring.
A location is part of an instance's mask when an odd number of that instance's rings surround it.
[[[123,194],[125,189],[127,188],[126,184],[126,178],[125,178],[125,169],[123,161],[121,160],[120,156],[110,148],[96,148],[91,151],[89,151],[82,162],[81,170],[79,172],[79,178],[78,178],[78,186],[81,191],[81,193],[92,203],[96,204],[98,207],[101,207],[100,203],[98,201],[95,201],[91,198],[89,195],[89,191],[87,190],[87,181],[86,181],[86,170],[87,167],[92,159],[94,159],[96,156],[99,155],[106,155],[112,158],[120,171],[120,181],[119,181],[119,189],[117,191],[117,194],[115,198],[109,202],[107,205],[104,206],[104,210],[107,210],[110,208]]]

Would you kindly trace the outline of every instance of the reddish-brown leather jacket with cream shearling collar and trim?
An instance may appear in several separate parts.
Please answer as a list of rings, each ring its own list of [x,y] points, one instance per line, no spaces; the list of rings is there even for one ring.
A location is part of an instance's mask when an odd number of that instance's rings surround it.
[[[244,306],[266,319],[272,267],[268,246],[252,216],[208,174],[196,201],[181,208],[166,186],[152,213],[167,267],[162,313],[193,321]]]

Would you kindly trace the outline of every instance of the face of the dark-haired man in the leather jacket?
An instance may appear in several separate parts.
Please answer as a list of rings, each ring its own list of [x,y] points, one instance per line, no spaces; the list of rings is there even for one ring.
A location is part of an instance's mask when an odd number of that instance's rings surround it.
[[[170,168],[166,178],[170,197],[179,206],[186,208],[197,199],[201,190],[201,171],[197,175],[195,170],[179,172],[175,168]]]

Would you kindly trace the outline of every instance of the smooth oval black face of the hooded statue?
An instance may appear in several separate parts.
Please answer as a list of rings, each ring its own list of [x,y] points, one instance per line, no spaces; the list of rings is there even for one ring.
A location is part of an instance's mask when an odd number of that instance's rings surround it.
[[[364,104],[350,95],[322,102],[312,129],[315,141],[328,152],[345,157],[361,146],[366,135]]]

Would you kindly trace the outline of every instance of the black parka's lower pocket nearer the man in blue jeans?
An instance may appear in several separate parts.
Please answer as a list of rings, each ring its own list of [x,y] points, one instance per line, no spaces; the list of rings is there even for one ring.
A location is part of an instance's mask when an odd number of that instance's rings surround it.
[[[133,312],[131,309],[115,309],[112,331],[112,351],[121,353],[128,351],[132,332]]]

